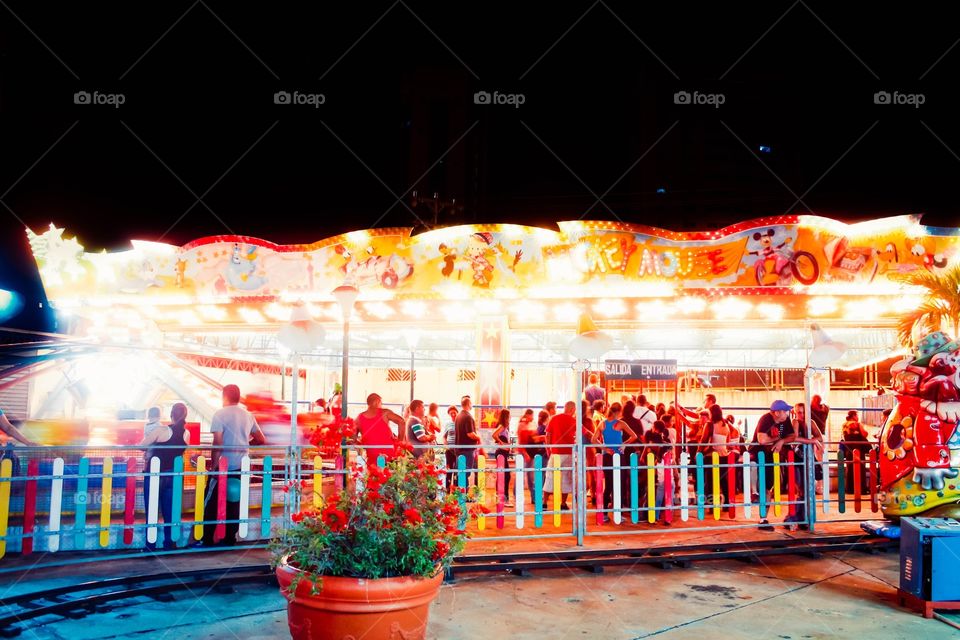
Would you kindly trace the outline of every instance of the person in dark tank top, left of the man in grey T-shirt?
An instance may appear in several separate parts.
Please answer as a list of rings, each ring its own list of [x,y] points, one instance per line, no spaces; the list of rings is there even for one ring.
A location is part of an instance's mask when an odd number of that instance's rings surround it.
[[[156,429],[152,429],[144,435],[143,440],[138,446],[148,447],[143,455],[143,510],[149,513],[150,509],[150,461],[157,458],[160,461],[160,483],[158,496],[158,515],[163,518],[163,548],[176,549],[177,545],[173,541],[173,476],[163,475],[173,472],[173,461],[183,455],[187,448],[187,406],[182,402],[173,405],[170,410],[170,424],[159,424]],[[239,517],[239,514],[238,514]],[[157,522],[160,518],[157,518]],[[160,536],[158,536],[159,538]],[[178,535],[177,538],[180,536]],[[156,549],[157,543],[147,542],[146,548],[150,551]]]

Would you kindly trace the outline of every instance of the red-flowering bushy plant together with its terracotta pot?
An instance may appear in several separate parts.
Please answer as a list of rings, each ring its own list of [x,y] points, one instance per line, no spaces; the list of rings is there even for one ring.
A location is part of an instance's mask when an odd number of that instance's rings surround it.
[[[290,634],[423,638],[444,570],[466,543],[458,492],[409,447],[381,468],[352,465],[320,509],[293,514],[271,544]]]

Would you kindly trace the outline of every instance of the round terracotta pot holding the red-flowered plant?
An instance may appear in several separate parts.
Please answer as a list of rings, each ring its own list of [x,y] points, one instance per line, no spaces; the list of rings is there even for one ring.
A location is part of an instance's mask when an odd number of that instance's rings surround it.
[[[277,567],[280,592],[287,595],[300,569],[286,560]],[[430,602],[443,573],[432,578],[323,578],[320,593],[310,595],[309,574],[288,599],[287,621],[294,640],[422,640]]]

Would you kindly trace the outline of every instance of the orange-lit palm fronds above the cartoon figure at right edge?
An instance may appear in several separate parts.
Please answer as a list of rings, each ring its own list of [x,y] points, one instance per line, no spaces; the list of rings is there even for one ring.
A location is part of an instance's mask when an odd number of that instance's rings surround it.
[[[927,290],[922,302],[905,311],[897,322],[897,337],[901,344],[912,347],[915,332],[926,334],[952,329],[951,337],[960,334],[960,263],[939,273],[911,271],[897,280]]]

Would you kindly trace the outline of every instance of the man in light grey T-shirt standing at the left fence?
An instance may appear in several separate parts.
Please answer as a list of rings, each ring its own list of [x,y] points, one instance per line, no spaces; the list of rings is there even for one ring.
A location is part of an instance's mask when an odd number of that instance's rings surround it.
[[[228,384],[223,388],[223,408],[213,414],[210,421],[213,433],[213,450],[210,454],[210,469],[216,473],[220,468],[220,458],[227,460],[227,486],[230,481],[240,481],[240,462],[250,452],[250,444],[260,445],[266,442],[263,431],[256,418],[240,406],[240,387]],[[217,520],[218,476],[213,475],[207,483],[207,495],[204,503],[203,527],[204,546],[213,546]],[[230,500],[227,491],[226,534],[220,544],[233,546],[237,543],[237,530],[240,528],[240,501]]]

